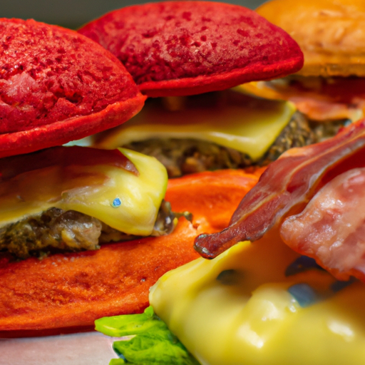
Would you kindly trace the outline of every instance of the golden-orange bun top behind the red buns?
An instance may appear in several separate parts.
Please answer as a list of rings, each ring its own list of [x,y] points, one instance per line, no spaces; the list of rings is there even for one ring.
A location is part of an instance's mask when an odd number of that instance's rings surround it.
[[[294,38],[304,76],[365,76],[365,0],[274,0],[257,12]]]

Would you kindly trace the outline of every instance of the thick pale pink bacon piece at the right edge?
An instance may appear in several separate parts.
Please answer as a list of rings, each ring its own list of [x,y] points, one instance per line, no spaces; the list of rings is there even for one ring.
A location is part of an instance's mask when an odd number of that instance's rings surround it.
[[[298,215],[284,220],[287,245],[327,268],[338,279],[365,279],[365,168],[324,185]]]

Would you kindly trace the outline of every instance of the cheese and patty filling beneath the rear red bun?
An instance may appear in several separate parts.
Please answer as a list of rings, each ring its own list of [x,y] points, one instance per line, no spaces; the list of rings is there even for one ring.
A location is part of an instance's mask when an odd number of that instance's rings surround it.
[[[267,165],[289,148],[334,135],[340,126],[310,123],[289,102],[225,91],[148,101],[138,115],[101,135],[96,144],[152,155],[175,178]]]

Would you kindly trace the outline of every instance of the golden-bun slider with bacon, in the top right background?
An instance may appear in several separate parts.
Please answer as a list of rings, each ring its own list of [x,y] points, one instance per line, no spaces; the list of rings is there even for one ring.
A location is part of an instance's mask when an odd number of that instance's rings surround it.
[[[292,76],[242,89],[292,101],[310,120],[322,123],[319,132],[364,116],[364,1],[273,0],[257,13],[298,42],[304,66]]]

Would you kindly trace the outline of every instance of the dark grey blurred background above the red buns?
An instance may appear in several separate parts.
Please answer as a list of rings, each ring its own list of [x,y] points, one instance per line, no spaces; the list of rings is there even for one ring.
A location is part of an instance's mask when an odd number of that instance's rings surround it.
[[[157,0],[155,0],[157,1]],[[230,0],[255,9],[265,0]],[[83,24],[123,6],[144,4],[146,0],[0,0],[0,17],[33,18],[48,24],[77,29]]]

